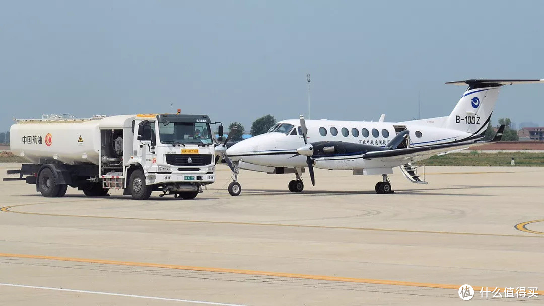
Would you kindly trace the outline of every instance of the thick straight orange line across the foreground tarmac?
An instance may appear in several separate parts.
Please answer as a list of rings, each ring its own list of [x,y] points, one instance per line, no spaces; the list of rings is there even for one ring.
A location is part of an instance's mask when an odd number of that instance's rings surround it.
[[[352,278],[352,277],[325,276],[325,275],[314,275],[314,274],[298,274],[298,273],[285,273],[285,272],[267,272],[267,271],[256,271],[256,270],[241,270],[241,269],[232,269],[232,268],[217,268],[217,267],[172,265],[172,264],[139,263],[139,262],[135,262],[135,261],[117,261],[117,260],[106,260],[106,259],[57,257],[57,256],[33,255],[33,254],[0,253],[0,257],[48,259],[48,260],[60,260],[60,261],[77,261],[77,262],[80,262],[80,263],[96,263],[96,264],[106,264],[106,265],[171,268],[171,269],[177,269],[177,270],[194,270],[194,271],[205,271],[205,272],[224,272],[224,273],[247,274],[247,275],[257,275],[257,276],[273,276],[273,277],[314,279],[314,280],[332,280],[332,281],[336,281],[336,282],[346,282],[346,283],[364,283],[364,284],[379,284],[379,285],[392,285],[392,286],[410,286],[410,287],[453,289],[453,290],[459,290],[459,288],[461,286],[461,285],[451,285],[451,284],[407,282],[407,281],[404,281],[404,280]],[[474,291],[479,291],[483,287],[482,286],[473,286],[473,288],[474,288]],[[488,286],[488,288],[490,288],[490,286]],[[494,287],[491,287],[491,288],[494,288]],[[502,290],[504,290],[504,288],[501,288],[500,290],[502,291]],[[544,291],[536,291],[536,293],[538,295],[544,295]]]

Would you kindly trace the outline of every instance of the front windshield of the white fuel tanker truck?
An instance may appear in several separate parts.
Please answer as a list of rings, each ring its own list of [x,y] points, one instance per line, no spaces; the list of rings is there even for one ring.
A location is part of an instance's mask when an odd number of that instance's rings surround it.
[[[159,122],[159,139],[164,144],[211,145],[212,134],[205,122]]]

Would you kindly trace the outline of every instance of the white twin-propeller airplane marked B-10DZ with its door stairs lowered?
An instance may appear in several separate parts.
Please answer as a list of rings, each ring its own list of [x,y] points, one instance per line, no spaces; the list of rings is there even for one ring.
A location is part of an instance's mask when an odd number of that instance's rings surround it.
[[[468,84],[449,116],[404,122],[284,120],[262,135],[240,141],[231,147],[216,148],[233,172],[228,186],[231,195],[242,190],[237,182],[240,168],[283,174],[294,173],[289,191],[304,189],[301,174],[308,167],[314,185],[313,167],[353,170],[358,174],[380,174],[377,193],[391,193],[387,174],[400,166],[413,183],[426,184],[417,174],[418,161],[436,154],[447,154],[469,146],[499,141],[500,127],[491,141],[484,138],[499,88],[506,84],[544,83],[544,79],[468,79],[446,84]]]

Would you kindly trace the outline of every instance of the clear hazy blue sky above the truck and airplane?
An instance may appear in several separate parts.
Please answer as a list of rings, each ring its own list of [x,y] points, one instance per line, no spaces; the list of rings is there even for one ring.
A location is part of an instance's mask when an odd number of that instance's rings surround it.
[[[448,115],[466,78],[544,78],[542,1],[3,1],[0,130],[44,113]],[[544,124],[544,85],[500,117]]]

